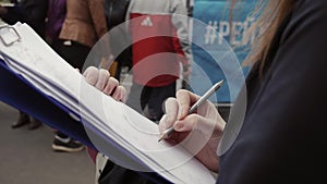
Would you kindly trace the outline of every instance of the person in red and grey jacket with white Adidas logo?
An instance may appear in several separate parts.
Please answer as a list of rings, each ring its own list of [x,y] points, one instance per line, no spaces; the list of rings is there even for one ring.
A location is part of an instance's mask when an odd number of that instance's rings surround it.
[[[159,121],[162,102],[175,94],[180,65],[191,71],[187,9],[182,0],[131,0],[126,20],[133,60],[126,105]]]

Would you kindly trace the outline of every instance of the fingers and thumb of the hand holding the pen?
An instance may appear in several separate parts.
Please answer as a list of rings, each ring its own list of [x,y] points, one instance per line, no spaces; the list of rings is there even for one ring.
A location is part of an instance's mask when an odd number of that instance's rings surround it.
[[[213,103],[206,101],[198,107],[198,113],[189,114],[190,105],[194,103],[198,98],[198,96],[187,90],[179,90],[177,99],[168,99],[166,101],[166,114],[159,123],[160,134],[173,126],[174,132],[168,138],[177,142],[189,136],[180,133],[194,131],[203,134],[205,139],[220,137],[225,122]]]

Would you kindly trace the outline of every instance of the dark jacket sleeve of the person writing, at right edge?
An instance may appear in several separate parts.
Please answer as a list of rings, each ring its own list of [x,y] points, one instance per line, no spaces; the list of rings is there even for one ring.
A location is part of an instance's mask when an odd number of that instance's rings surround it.
[[[327,1],[298,1],[217,183],[327,181],[326,10]]]

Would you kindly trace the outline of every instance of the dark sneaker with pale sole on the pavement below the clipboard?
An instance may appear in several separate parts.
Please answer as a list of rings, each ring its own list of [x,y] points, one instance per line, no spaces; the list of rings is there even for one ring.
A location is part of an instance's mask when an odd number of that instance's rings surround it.
[[[63,152],[78,152],[84,149],[84,146],[73,140],[72,138],[61,138],[59,136],[55,136],[55,140],[52,143],[52,150],[55,151],[63,151]]]

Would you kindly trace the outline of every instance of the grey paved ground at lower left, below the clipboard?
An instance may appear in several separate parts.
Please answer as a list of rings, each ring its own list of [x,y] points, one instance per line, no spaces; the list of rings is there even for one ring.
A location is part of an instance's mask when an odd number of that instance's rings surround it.
[[[53,152],[53,132],[43,125],[12,130],[19,112],[0,101],[0,184],[93,184],[95,165],[86,151]]]

